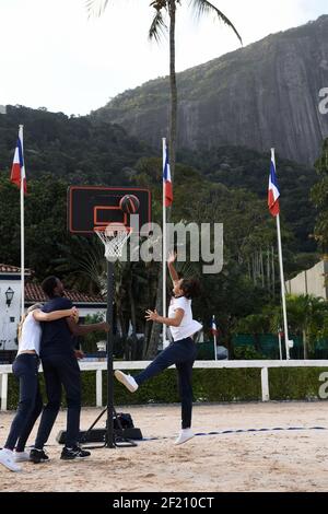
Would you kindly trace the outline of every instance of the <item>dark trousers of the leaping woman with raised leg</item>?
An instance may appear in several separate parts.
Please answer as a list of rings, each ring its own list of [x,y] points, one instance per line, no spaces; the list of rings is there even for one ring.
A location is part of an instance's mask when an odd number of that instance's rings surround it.
[[[137,384],[141,385],[152,376],[159,375],[162,371],[176,365],[178,372],[178,387],[181,399],[181,428],[189,429],[191,427],[192,412],[192,366],[196,359],[196,344],[188,337],[180,341],[172,342],[163,350],[156,359],[141,373],[133,378]]]

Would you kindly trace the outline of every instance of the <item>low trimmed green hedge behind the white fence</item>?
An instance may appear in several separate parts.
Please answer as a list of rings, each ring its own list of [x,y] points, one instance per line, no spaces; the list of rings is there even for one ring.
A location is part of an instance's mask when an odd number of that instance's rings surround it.
[[[271,400],[319,399],[323,385],[319,376],[327,367],[271,367],[269,387]],[[136,374],[138,371],[132,371]],[[95,406],[95,371],[82,372],[82,404]],[[203,369],[194,370],[195,401],[259,401],[261,400],[260,369]],[[44,377],[40,387],[45,395]],[[103,372],[103,402],[106,404],[107,376]],[[17,405],[19,388],[14,376],[9,375],[8,408]],[[134,394],[129,393],[114,378],[115,405],[172,404],[178,402],[178,388],[175,370],[166,370],[161,375],[144,383]],[[62,406],[66,406],[63,400]]]

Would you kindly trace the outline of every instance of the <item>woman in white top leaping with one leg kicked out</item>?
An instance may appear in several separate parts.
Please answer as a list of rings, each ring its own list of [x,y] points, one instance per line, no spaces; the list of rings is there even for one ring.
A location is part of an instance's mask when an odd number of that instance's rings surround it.
[[[196,344],[192,340],[192,336],[201,329],[201,325],[192,319],[191,299],[199,294],[200,288],[197,279],[178,278],[174,268],[175,259],[176,255],[171,254],[167,260],[173,281],[173,297],[168,307],[168,317],[160,316],[156,311],[147,311],[145,316],[148,322],[167,325],[171,328],[173,342],[138,375],[126,375],[117,370],[115,376],[133,393],[143,382],[175,364],[178,373],[179,395],[181,398],[181,430],[175,444],[183,444],[194,437],[191,430],[191,376],[196,359]]]

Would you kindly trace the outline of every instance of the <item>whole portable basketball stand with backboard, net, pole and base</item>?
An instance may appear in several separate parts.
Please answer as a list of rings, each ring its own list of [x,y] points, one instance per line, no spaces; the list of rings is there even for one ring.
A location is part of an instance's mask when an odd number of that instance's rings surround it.
[[[112,246],[112,256],[120,256],[120,252],[128,240],[130,227],[129,219],[126,213],[124,213],[119,208],[119,200],[125,195],[136,195],[140,201],[141,206],[141,222],[149,223],[151,217],[151,195],[148,189],[140,188],[109,188],[101,186],[71,186],[68,190],[68,227],[71,233],[80,235],[91,235],[97,233],[102,242],[106,246],[105,256],[107,259],[107,311],[106,311],[106,322],[109,325],[109,331],[107,332],[107,406],[91,424],[91,427],[85,432],[80,432],[80,442],[87,443],[92,441],[104,441],[104,444],[101,446],[89,446],[90,448],[97,447],[131,447],[137,446],[137,444],[131,441],[141,440],[142,434],[140,429],[131,428],[124,429],[121,427],[120,420],[117,417],[116,410],[114,408],[114,381],[113,381],[113,301],[114,301],[114,283],[115,283],[115,273],[114,273],[114,264],[108,259],[110,252],[107,252],[107,243],[109,240],[109,246]],[[107,218],[106,218],[107,217]],[[106,234],[105,226],[112,225],[126,225],[127,237],[125,240],[124,234],[122,238],[117,238],[118,243],[116,245],[110,245],[110,231]],[[110,226],[109,226],[110,229]],[[114,232],[117,232],[115,226],[112,230],[113,240],[115,238]],[[105,234],[105,235],[104,235]],[[114,241],[113,241],[114,242]],[[115,243],[115,242],[114,242]],[[107,413],[106,429],[94,429],[99,419]],[[116,419],[118,429],[114,429],[114,419]],[[130,437],[129,437],[130,436]],[[65,442],[65,432],[60,432],[57,436],[59,443]]]

